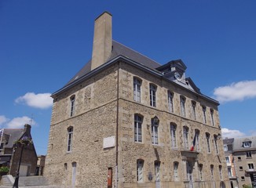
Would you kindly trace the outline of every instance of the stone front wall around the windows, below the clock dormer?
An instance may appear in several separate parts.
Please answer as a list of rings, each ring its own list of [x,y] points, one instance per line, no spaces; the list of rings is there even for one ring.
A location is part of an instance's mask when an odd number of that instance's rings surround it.
[[[155,187],[155,179],[148,180],[148,172],[154,176],[154,161],[160,161],[161,187],[169,187],[174,183],[174,161],[179,163],[178,179],[181,187],[188,181],[184,165],[185,157],[181,155],[184,150],[183,126],[189,128],[188,143],[192,143],[195,129],[199,130],[200,148],[196,164],[193,168],[193,179],[199,181],[198,164],[203,164],[203,180],[210,182],[210,164],[214,165],[214,181],[223,180],[229,187],[229,177],[226,173],[223,144],[218,140],[219,154],[214,147],[214,135],[221,134],[219,128],[218,107],[214,103],[203,99],[196,93],[188,92],[177,85],[152,74],[140,71],[126,63],[122,63],[120,71],[120,101],[119,101],[119,187]],[[141,79],[141,103],[133,101],[133,78]],[[149,84],[157,86],[156,107],[149,103]],[[167,90],[174,92],[174,113],[168,112]],[[186,117],[180,114],[180,96],[186,97]],[[197,120],[192,119],[191,101],[196,101]],[[207,107],[207,124],[203,124],[202,105]],[[214,126],[210,122],[210,109],[214,110]],[[143,117],[142,143],[134,142],[134,114]],[[159,144],[152,145],[151,118],[159,117]],[[177,148],[170,146],[170,122],[177,125]],[[210,133],[210,149],[207,153],[206,132]],[[144,160],[144,183],[137,183],[137,159]],[[198,163],[198,164],[197,164]],[[222,179],[219,175],[219,165],[222,166]],[[171,183],[172,182],[172,183]],[[178,183],[177,183],[178,184]],[[177,186],[178,187],[178,186]],[[207,187],[207,186],[206,186]]]

